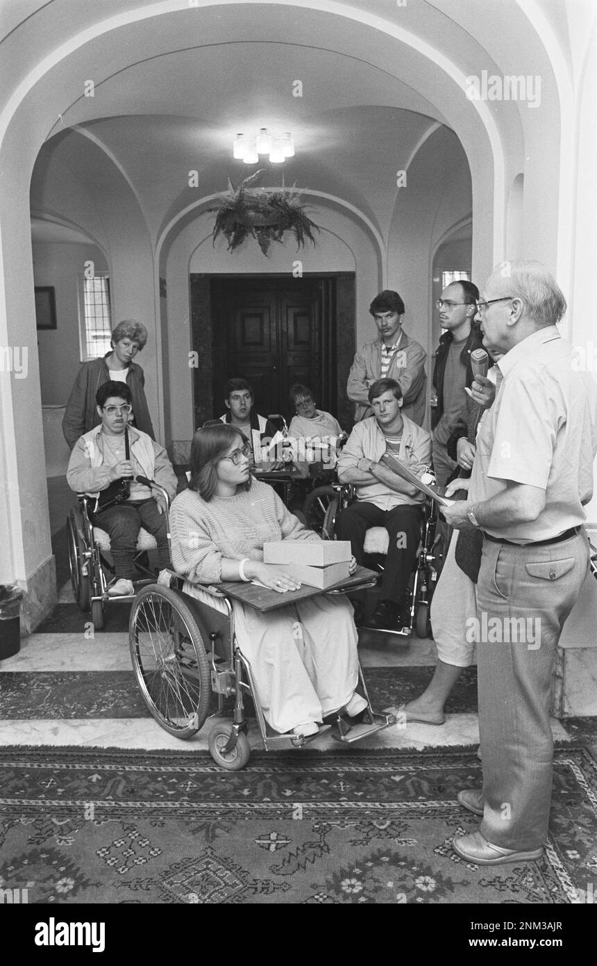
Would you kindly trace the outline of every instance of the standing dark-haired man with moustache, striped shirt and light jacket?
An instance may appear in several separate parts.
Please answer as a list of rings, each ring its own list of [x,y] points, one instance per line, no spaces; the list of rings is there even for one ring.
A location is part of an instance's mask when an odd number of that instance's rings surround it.
[[[397,292],[385,289],[373,298],[369,312],[378,337],[366,342],[355,355],[348,374],[346,392],[355,406],[355,422],[371,416],[368,392],[380,379],[393,379],[400,386],[403,414],[422,426],[425,418],[427,354],[402,328],[404,302]]]

